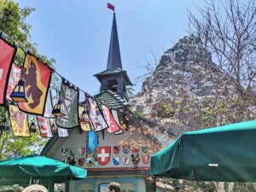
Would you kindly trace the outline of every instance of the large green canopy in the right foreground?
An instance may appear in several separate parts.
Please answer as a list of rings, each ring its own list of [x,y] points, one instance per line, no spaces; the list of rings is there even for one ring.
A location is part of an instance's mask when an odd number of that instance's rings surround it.
[[[150,166],[158,177],[256,182],[256,120],[185,132]]]

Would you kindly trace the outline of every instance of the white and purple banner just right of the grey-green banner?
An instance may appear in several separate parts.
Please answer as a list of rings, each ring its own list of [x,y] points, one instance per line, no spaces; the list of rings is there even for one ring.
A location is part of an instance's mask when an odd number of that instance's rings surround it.
[[[86,102],[88,107],[88,113],[90,116],[90,122],[94,127],[94,131],[102,131],[108,128],[108,124],[102,116],[102,113],[97,105],[97,102],[86,96]]]

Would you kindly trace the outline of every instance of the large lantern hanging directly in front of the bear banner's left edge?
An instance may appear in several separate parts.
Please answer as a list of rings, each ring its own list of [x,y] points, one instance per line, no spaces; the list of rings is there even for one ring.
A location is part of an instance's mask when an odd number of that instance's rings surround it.
[[[15,89],[12,91],[10,97],[14,102],[27,102],[26,83],[23,79],[20,79],[18,84],[15,85]]]

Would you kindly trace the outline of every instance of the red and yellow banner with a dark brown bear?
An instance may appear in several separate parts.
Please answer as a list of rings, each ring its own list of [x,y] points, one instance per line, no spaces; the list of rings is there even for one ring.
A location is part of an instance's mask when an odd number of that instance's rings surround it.
[[[19,102],[23,112],[44,114],[44,105],[49,88],[51,69],[33,55],[26,55],[22,79],[26,82],[28,102]]]

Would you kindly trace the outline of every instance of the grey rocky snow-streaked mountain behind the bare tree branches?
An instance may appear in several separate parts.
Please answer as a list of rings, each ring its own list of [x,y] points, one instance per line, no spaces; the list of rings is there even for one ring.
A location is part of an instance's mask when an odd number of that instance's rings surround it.
[[[236,96],[230,76],[212,62],[198,38],[189,36],[164,52],[142,90],[131,97],[130,106],[164,125],[165,133],[172,130],[178,135],[232,122],[226,111],[236,108]]]

